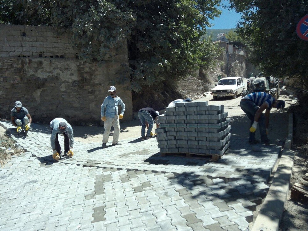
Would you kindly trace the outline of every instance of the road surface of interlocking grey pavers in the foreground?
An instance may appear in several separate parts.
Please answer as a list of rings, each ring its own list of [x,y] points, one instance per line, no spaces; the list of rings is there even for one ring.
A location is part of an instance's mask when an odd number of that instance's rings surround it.
[[[50,131],[32,124],[29,134],[13,136],[25,153],[0,171],[2,231],[248,230],[280,151],[253,152],[231,136],[211,162],[162,157],[156,139],[131,139],[105,149],[75,142],[73,158],[55,162]]]

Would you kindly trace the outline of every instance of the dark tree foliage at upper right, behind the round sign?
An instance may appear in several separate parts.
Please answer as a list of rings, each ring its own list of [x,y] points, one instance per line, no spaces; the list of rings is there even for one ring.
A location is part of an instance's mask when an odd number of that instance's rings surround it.
[[[304,0],[231,0],[241,12],[237,33],[250,40],[250,61],[267,75],[299,78],[308,87],[308,42],[296,34],[298,21],[307,14]]]

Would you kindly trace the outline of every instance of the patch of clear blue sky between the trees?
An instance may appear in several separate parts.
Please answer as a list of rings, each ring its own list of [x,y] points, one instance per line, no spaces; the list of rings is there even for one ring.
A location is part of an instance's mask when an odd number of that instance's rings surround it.
[[[222,0],[221,6],[226,5],[229,6],[228,0]],[[215,18],[214,20],[210,20],[211,24],[214,24],[212,27],[208,27],[207,29],[231,29],[236,27],[236,23],[241,19],[241,15],[236,13],[234,10],[230,11],[228,9],[223,9],[222,7],[219,9],[222,11],[219,18]]]

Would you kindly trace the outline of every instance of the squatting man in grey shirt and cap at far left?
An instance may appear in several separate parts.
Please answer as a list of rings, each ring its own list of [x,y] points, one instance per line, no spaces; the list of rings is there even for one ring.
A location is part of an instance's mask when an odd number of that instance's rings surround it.
[[[32,123],[32,118],[25,107],[22,107],[20,101],[14,103],[14,108],[11,110],[11,121],[12,124],[16,127],[18,133],[24,131],[25,136],[28,135],[28,130]],[[22,129],[24,128],[24,129]]]

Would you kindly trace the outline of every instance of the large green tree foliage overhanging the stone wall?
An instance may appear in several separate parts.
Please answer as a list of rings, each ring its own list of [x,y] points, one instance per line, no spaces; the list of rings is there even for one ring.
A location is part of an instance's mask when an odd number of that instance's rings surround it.
[[[18,0],[15,6],[22,10],[15,15],[21,24],[73,31],[72,43],[85,61],[103,61],[127,40],[131,86],[138,92],[210,62],[206,52],[212,51],[212,43],[201,36],[209,18],[221,13],[220,1]]]

